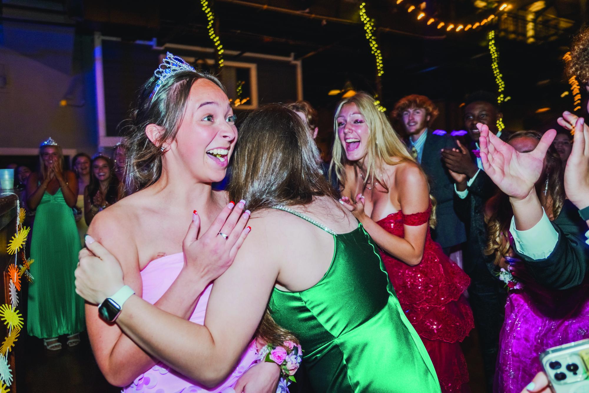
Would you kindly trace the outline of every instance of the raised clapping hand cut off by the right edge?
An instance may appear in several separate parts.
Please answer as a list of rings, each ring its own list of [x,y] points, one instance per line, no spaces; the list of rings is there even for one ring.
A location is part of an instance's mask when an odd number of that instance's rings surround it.
[[[584,209],[589,206],[589,126],[583,117],[570,112],[564,112],[558,124],[567,130],[575,125],[573,150],[564,170],[564,190],[578,209]]]

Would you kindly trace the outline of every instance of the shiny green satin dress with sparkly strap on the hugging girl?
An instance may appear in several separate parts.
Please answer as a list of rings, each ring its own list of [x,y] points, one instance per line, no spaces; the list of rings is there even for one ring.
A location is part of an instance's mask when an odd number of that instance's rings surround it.
[[[277,207],[333,235],[332,263],[301,292],[274,288],[270,315],[299,338],[315,392],[440,392],[419,335],[399,305],[372,239],[358,224],[336,234],[287,207]]]

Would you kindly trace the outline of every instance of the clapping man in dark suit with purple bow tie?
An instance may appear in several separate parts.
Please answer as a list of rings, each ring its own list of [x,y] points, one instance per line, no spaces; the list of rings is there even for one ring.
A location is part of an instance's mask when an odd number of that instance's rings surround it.
[[[482,170],[479,157],[479,131],[477,123],[487,124],[489,130],[499,137],[498,120],[503,115],[492,93],[478,91],[466,98],[464,125],[468,131],[468,148],[459,143],[458,149],[442,151],[445,166],[455,181],[454,204],[456,212],[466,223],[466,246],[464,247],[464,271],[471,278],[468,288],[469,302],[479,334],[485,366],[487,390],[492,391],[495,361],[499,346],[499,332],[503,325],[506,290],[489,271],[487,262],[492,257],[484,255],[487,247],[485,203],[495,194],[497,187]]]

